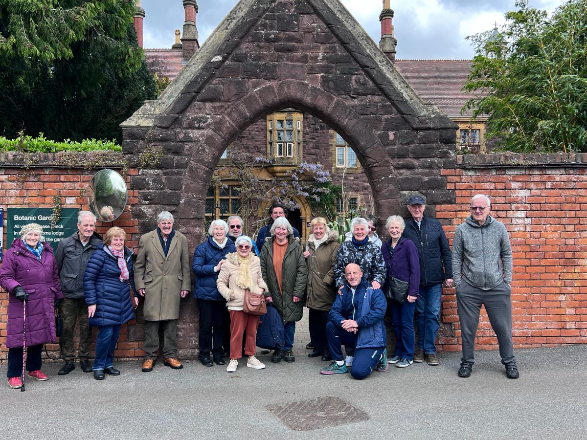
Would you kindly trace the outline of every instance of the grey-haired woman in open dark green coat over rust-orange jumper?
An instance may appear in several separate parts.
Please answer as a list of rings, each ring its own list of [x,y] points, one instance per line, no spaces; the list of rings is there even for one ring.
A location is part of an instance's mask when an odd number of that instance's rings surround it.
[[[306,262],[294,229],[285,217],[275,219],[271,236],[261,248],[261,271],[268,289],[265,299],[273,303],[284,320],[284,351],[275,350],[271,362],[294,362],[295,323],[302,319],[306,289]]]

